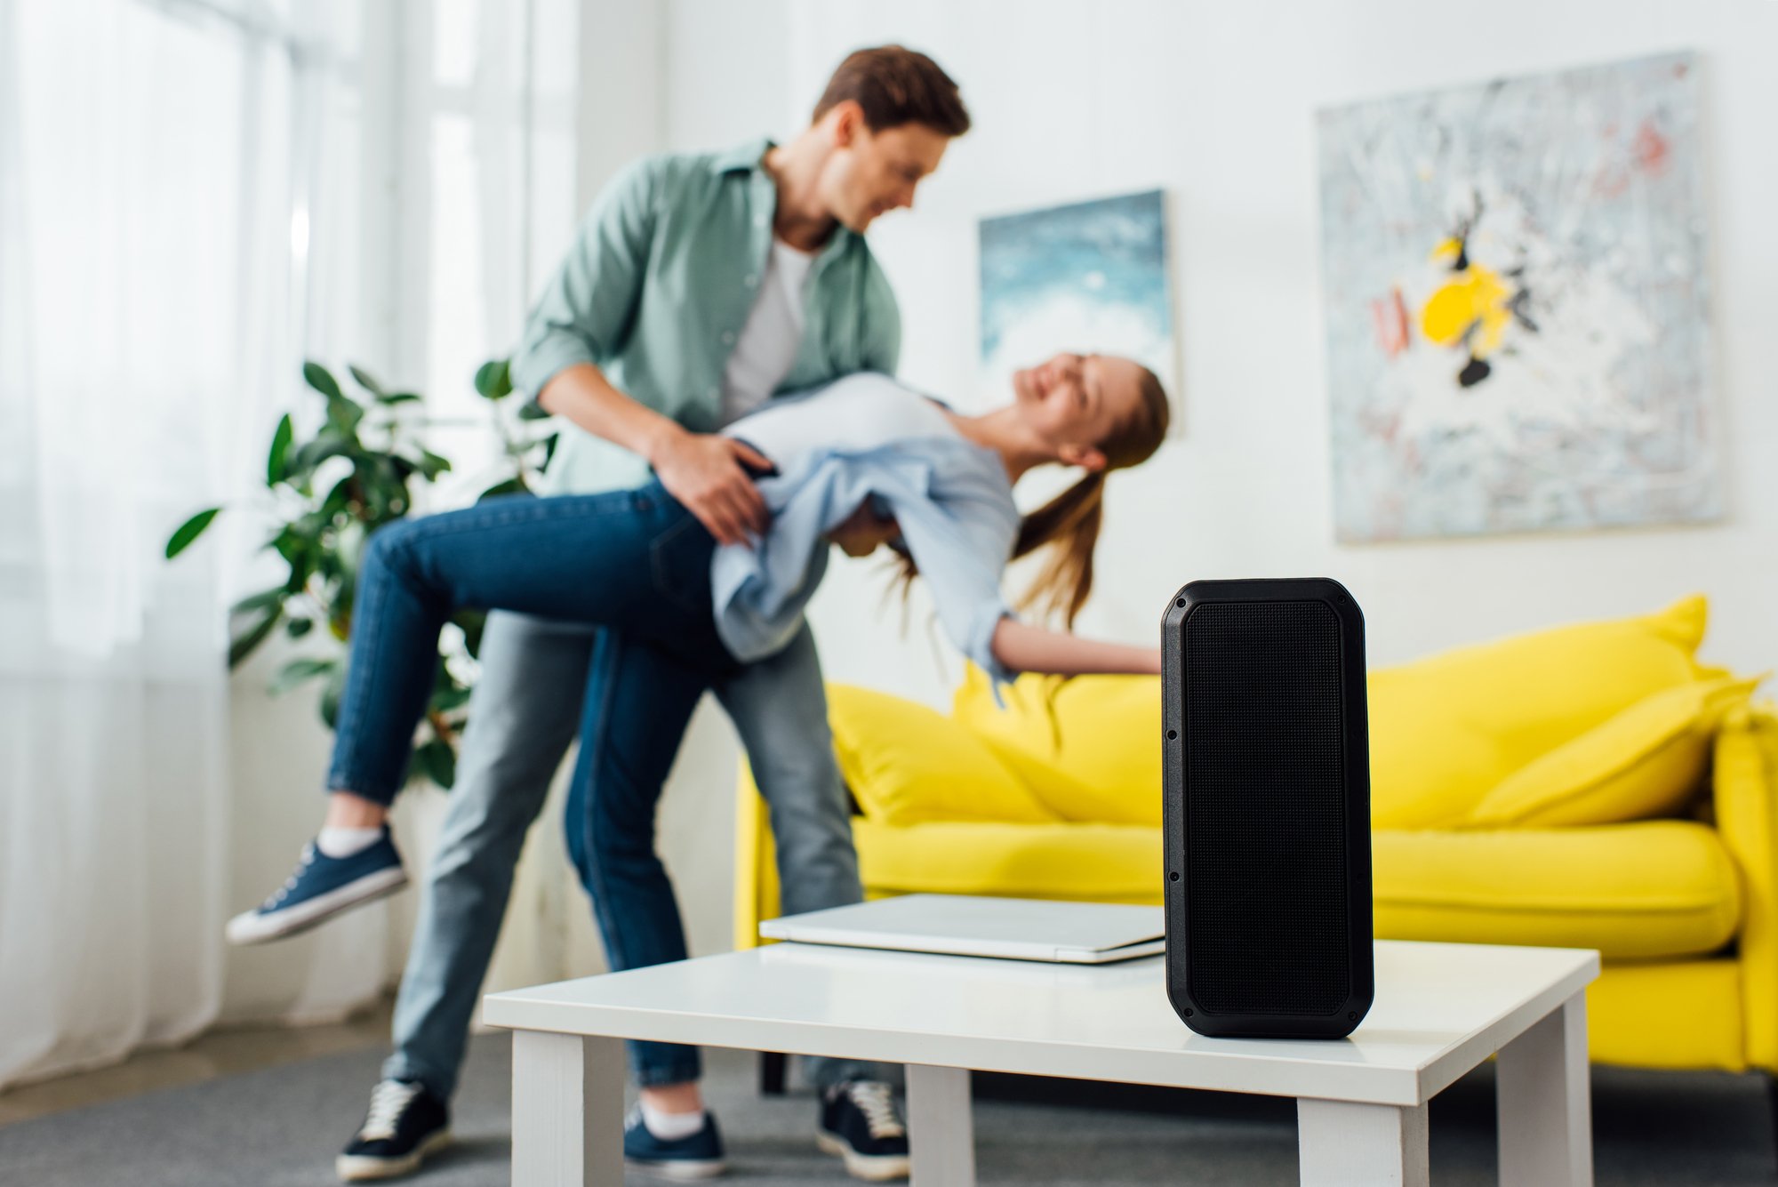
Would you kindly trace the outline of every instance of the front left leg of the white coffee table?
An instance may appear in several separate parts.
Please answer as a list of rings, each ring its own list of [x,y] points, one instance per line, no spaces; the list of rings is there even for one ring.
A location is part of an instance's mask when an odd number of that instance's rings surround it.
[[[622,1187],[621,1040],[514,1031],[512,1182]]]

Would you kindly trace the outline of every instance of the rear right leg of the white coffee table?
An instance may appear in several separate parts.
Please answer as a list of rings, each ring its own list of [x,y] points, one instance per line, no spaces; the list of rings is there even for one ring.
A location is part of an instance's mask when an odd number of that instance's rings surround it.
[[[1591,1187],[1586,993],[1501,1048],[1495,1098],[1502,1187]]]

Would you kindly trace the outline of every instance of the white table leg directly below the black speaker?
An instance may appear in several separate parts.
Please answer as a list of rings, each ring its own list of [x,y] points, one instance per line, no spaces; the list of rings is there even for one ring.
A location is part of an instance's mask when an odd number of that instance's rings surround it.
[[[1426,1105],[1296,1102],[1303,1187],[1426,1187]]]

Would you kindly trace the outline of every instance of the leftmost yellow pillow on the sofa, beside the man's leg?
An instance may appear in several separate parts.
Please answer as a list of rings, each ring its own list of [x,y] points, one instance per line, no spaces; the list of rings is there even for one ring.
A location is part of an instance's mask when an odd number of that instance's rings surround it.
[[[978,737],[926,705],[829,684],[827,718],[839,771],[871,819],[1056,819]]]

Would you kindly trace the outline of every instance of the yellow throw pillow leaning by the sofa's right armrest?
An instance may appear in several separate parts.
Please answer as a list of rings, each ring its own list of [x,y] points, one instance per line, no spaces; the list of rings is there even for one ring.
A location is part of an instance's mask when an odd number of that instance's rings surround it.
[[[1677,812],[1703,782],[1723,714],[1746,704],[1755,684],[1719,677],[1650,693],[1508,775],[1465,826],[1611,825]]]

